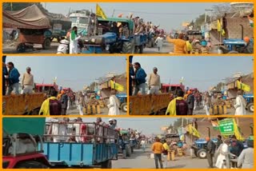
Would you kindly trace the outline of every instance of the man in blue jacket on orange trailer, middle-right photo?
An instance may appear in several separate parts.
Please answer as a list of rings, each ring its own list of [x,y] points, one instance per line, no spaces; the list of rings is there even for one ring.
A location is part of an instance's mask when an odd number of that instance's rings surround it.
[[[138,92],[142,94],[146,94],[146,73],[145,70],[142,69],[140,63],[134,63],[135,75],[131,76],[134,80],[134,93],[133,95],[137,95]]]

